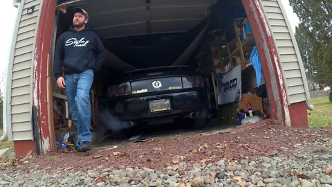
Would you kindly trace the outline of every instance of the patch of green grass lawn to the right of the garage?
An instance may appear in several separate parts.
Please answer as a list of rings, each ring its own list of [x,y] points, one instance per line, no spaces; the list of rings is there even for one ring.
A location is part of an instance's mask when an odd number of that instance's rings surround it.
[[[311,128],[332,128],[332,103],[329,97],[312,98],[309,103],[315,107],[308,110],[308,125]]]

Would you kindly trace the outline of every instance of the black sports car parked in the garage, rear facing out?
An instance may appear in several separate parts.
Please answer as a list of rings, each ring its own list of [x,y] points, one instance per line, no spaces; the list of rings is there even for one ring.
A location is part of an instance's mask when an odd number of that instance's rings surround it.
[[[201,128],[210,114],[208,86],[190,66],[127,71],[115,80],[107,105],[122,122],[156,125],[191,118]]]

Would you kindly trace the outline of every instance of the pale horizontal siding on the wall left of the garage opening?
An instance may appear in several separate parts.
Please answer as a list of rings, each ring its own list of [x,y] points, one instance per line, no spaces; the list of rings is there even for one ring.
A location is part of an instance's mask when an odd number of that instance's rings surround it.
[[[28,14],[27,9],[35,6]],[[13,37],[8,67],[8,138],[33,140],[33,61],[41,0],[22,0]]]

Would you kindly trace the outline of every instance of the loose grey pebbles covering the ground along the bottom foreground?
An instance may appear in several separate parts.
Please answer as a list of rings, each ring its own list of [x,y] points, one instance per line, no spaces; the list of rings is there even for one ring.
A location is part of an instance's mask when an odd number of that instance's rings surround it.
[[[91,167],[86,172],[54,169],[50,173],[57,173],[55,178],[37,166],[28,172],[16,170],[10,173],[8,170],[1,170],[0,186],[175,187],[183,183],[185,186],[241,186],[237,180],[240,177],[246,183],[245,186],[332,187],[332,177],[326,175],[326,169],[332,163],[332,154],[329,151],[332,150],[332,139],[317,139],[292,146],[291,149],[278,149],[287,150],[288,156],[284,157],[277,157],[277,154],[282,152],[279,151],[272,152],[270,157],[247,157],[232,161],[220,158],[219,161],[208,164],[181,162],[178,163],[177,170],[172,166],[168,166],[164,171],[149,168],[129,170],[124,167],[116,170],[98,166],[95,169]],[[321,151],[319,156],[317,151]],[[307,178],[302,179],[298,175]],[[107,177],[109,183],[95,183],[98,177]]]

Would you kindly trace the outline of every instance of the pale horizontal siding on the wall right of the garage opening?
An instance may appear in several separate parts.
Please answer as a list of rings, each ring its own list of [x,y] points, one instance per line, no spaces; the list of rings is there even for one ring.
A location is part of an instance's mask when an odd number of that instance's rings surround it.
[[[310,94],[297,43],[280,0],[261,0],[268,26],[277,46],[288,104],[308,100]]]

